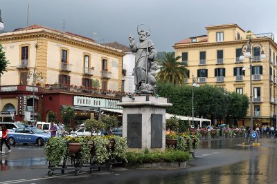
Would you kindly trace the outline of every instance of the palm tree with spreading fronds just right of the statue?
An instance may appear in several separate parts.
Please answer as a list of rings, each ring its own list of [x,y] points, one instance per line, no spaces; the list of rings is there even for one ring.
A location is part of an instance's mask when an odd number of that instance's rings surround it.
[[[184,84],[184,79],[188,77],[188,70],[177,61],[180,58],[180,56],[175,57],[175,52],[163,52],[161,58],[157,61],[159,72],[156,74],[156,79],[158,82],[175,85]]]

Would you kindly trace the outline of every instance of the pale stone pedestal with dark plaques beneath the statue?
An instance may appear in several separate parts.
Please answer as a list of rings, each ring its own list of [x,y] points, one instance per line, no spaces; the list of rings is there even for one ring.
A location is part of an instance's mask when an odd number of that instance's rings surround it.
[[[123,97],[123,137],[134,150],[166,150],[166,108],[168,99],[150,95]]]

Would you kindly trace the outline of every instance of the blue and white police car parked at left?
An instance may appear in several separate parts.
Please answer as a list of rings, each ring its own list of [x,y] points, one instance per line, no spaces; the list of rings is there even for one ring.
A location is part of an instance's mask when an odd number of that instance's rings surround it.
[[[8,133],[8,143],[10,145],[24,143],[42,146],[50,137],[50,133],[37,127],[19,127],[15,131]]]

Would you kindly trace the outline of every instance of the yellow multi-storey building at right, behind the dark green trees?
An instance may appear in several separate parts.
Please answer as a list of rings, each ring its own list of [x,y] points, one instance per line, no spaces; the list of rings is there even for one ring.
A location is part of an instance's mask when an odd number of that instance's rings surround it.
[[[189,76],[186,82],[191,85],[195,76],[200,85],[218,85],[250,96],[250,62],[249,59],[240,61],[239,57],[242,45],[251,37],[253,124],[272,125],[277,103],[277,44],[274,35],[253,34],[234,23],[208,26],[206,31],[206,35],[189,37],[174,45],[176,55],[188,64]],[[266,59],[260,59],[262,48]],[[250,108],[247,117],[238,123],[250,125]]]

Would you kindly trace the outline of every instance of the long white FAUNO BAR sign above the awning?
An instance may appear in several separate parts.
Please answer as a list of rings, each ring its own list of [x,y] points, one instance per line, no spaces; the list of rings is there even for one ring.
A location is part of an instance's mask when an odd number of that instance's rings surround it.
[[[92,108],[107,108],[107,109],[122,109],[117,106],[118,100],[100,99],[86,96],[74,96],[73,105],[92,107]]]

